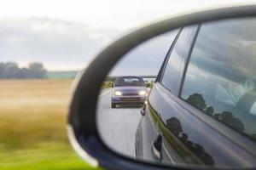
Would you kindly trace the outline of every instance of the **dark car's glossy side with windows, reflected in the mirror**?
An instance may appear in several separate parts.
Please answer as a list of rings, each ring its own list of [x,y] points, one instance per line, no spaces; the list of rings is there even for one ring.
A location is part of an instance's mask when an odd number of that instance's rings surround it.
[[[256,25],[251,22],[255,20],[180,29],[142,110],[135,141],[137,158],[255,167],[256,86],[255,74],[250,72],[255,72],[256,62],[249,57],[255,53],[249,46],[255,37],[242,36],[253,34],[250,30]]]

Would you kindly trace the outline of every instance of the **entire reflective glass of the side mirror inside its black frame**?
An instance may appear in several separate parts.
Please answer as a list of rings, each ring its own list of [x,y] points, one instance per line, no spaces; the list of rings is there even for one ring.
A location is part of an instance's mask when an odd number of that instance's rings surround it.
[[[256,167],[256,20],[186,26],[133,48],[98,97],[108,147],[140,161]]]

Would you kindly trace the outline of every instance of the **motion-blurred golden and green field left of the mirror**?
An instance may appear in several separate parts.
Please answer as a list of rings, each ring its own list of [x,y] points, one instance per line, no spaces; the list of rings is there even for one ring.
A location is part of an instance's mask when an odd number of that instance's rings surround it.
[[[72,80],[0,81],[0,169],[87,169],[67,140]]]

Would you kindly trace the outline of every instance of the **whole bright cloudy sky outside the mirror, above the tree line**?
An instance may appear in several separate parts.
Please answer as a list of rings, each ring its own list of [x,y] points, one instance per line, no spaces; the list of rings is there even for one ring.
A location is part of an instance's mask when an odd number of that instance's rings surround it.
[[[108,43],[154,20],[255,1],[0,1],[0,62],[42,62],[49,71],[80,70]]]

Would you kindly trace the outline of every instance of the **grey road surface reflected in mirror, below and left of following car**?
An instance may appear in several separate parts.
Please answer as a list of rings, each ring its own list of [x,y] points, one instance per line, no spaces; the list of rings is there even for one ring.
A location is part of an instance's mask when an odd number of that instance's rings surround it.
[[[97,127],[111,149],[135,157],[135,134],[141,118],[140,109],[110,106],[111,89],[102,92],[97,106]]]

